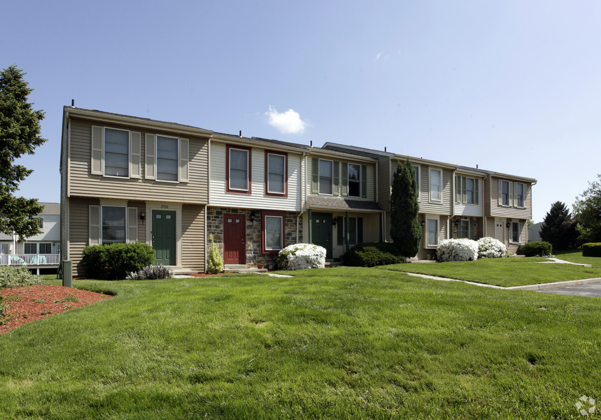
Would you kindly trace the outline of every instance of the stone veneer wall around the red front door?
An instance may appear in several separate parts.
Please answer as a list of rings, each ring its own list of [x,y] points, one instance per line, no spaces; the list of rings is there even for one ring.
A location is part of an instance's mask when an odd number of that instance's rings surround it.
[[[215,245],[219,253],[224,254],[224,213],[246,215],[246,265],[274,264],[278,254],[261,253],[261,210],[256,209],[257,217],[251,222],[250,208],[207,207],[207,255],[209,255],[210,234],[213,234]],[[284,246],[302,242],[302,218],[299,218],[299,235],[296,234],[296,213],[285,212],[284,219]]]

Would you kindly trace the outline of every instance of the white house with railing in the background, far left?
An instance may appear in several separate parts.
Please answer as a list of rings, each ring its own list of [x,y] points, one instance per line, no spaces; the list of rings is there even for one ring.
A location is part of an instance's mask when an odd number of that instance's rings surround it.
[[[26,265],[35,269],[56,269],[60,254],[60,205],[57,202],[38,202],[43,205],[37,216],[42,219],[41,232],[19,240],[14,235],[0,234],[0,264]]]

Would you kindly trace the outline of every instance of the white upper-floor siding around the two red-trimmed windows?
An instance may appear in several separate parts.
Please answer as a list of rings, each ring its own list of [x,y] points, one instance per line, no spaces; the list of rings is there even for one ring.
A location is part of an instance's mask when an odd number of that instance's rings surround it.
[[[211,142],[212,206],[301,211],[301,155],[288,152],[288,196],[265,195],[265,149],[251,149],[251,193],[225,192],[225,144]]]

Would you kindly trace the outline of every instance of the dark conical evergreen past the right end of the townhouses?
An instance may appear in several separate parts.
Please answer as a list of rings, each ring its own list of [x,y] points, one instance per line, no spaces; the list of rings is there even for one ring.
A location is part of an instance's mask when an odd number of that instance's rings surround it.
[[[576,224],[566,204],[555,201],[545,215],[540,227],[540,239],[553,245],[554,251],[563,251],[575,246]]]

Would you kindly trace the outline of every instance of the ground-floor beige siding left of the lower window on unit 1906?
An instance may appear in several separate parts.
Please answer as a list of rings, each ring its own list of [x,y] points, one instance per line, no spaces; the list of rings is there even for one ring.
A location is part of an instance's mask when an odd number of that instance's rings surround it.
[[[73,275],[85,274],[81,252],[88,246],[88,206],[100,205],[97,198],[69,199],[69,259],[73,261]]]

